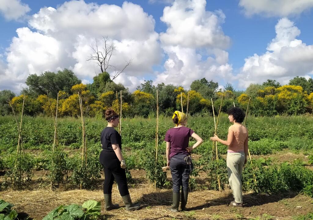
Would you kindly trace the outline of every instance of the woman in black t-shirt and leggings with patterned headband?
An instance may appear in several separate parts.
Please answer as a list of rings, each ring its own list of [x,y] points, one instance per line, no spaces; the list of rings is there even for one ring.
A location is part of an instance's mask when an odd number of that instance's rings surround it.
[[[101,146],[99,161],[104,168],[103,193],[105,201],[105,211],[118,208],[118,204],[112,204],[112,186],[114,179],[117,182],[121,197],[125,203],[127,211],[134,211],[140,205],[134,205],[128,192],[126,179],[126,163],[122,155],[122,138],[114,129],[119,124],[119,115],[111,108],[105,111],[105,120],[108,126],[101,132]]]

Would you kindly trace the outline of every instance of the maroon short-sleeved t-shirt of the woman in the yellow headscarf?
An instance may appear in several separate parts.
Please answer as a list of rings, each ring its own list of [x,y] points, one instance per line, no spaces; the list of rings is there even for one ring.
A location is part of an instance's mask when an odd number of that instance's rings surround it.
[[[171,143],[170,158],[179,153],[190,155],[186,148],[192,134],[193,130],[184,126],[167,130],[164,141]]]

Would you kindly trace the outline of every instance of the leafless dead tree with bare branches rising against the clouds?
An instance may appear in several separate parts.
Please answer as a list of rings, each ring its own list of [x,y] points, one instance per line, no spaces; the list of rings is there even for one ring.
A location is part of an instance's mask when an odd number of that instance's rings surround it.
[[[102,41],[102,43],[98,42],[99,40],[95,38],[95,41],[90,45],[93,53],[88,56],[87,61],[95,60],[101,69],[101,73],[108,72],[107,70],[109,69],[113,70],[110,77],[111,80],[114,80],[116,77],[124,72],[126,67],[131,65],[132,59],[126,61],[126,64],[122,69],[119,69],[117,66],[111,65],[110,59],[112,55],[114,55],[115,45],[113,42],[110,43],[107,36],[102,36],[100,40]],[[102,48],[100,48],[101,44],[103,44]]]

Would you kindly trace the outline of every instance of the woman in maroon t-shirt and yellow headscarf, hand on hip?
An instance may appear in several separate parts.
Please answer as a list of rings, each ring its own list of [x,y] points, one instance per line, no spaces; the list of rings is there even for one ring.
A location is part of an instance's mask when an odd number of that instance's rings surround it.
[[[178,212],[180,186],[182,186],[181,210],[187,210],[188,182],[189,174],[192,170],[190,153],[193,149],[202,144],[203,140],[194,133],[192,129],[184,126],[187,121],[186,114],[175,111],[172,119],[175,123],[175,127],[167,130],[164,141],[166,141],[167,166],[171,169],[173,181],[173,205],[170,207],[170,210]],[[197,140],[197,143],[192,147],[188,146],[190,137]]]

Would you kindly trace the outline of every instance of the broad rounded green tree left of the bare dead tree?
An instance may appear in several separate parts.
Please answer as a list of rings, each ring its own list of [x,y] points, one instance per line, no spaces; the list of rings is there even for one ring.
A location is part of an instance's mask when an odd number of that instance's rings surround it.
[[[81,80],[69,69],[59,70],[57,73],[46,71],[39,76],[36,74],[30,74],[26,81],[28,85],[28,92],[33,96],[47,94],[53,98],[57,97],[60,90],[67,93],[71,93],[71,88],[75,84],[80,84]]]

